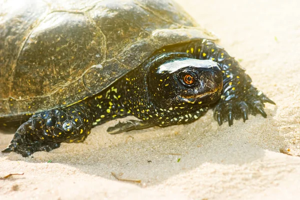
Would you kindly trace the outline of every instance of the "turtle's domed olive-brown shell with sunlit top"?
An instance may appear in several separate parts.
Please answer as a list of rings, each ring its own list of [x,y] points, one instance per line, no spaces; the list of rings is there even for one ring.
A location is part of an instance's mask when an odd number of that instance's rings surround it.
[[[0,117],[4,118],[92,96],[163,46],[216,39],[170,0],[0,0],[0,4]]]

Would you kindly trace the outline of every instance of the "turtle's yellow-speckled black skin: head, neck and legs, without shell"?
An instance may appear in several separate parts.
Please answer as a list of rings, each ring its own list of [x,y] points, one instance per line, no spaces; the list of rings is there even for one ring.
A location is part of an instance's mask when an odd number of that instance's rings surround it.
[[[266,117],[265,102],[274,104],[251,85],[234,58],[204,39],[161,49],[99,94],[32,115],[2,152],[27,157],[61,142],[83,142],[92,127],[129,115],[139,120],[119,122],[107,132],[190,123],[209,107],[219,125],[228,121],[231,126],[248,114]]]

